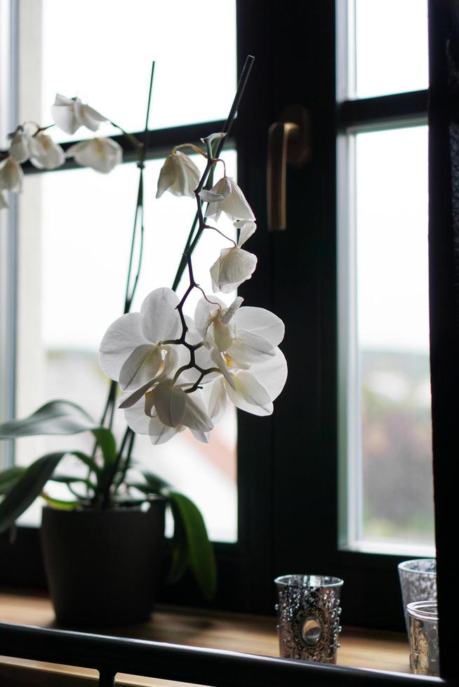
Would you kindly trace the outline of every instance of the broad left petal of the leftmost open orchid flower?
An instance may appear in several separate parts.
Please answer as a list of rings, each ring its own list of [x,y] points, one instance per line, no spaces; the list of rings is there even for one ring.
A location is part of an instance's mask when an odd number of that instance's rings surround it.
[[[141,344],[148,344],[142,334],[142,320],[139,313],[127,313],[115,320],[105,332],[100,343],[99,362],[102,370],[114,381],[125,360]]]

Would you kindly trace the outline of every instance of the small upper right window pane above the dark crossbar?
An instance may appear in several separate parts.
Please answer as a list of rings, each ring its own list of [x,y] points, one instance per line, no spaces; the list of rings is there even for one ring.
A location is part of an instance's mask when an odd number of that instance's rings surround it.
[[[356,93],[350,96],[427,88],[427,0],[355,0],[354,11]]]

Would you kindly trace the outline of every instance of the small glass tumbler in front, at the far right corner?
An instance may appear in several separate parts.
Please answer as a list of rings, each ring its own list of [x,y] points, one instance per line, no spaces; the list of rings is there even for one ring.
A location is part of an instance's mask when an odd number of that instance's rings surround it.
[[[408,604],[410,666],[415,675],[439,675],[437,601]]]

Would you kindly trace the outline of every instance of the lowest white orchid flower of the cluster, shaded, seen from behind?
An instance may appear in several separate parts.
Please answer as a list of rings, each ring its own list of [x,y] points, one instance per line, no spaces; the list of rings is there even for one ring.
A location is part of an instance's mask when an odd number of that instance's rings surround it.
[[[136,394],[124,397],[120,407],[131,429],[149,435],[153,444],[164,444],[185,428],[199,441],[207,443],[208,433],[213,429],[199,390],[185,393],[171,379],[164,379],[147,391],[145,400],[138,399]]]

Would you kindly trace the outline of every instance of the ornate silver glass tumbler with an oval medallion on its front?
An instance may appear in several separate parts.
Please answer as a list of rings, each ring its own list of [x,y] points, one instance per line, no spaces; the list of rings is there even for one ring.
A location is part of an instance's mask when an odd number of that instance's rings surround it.
[[[335,663],[342,580],[324,575],[284,575],[274,582],[281,657]]]

